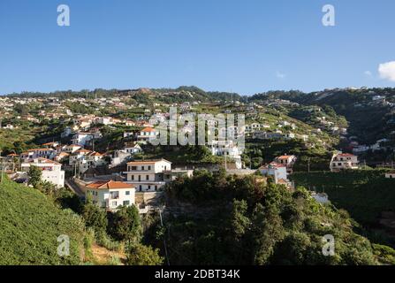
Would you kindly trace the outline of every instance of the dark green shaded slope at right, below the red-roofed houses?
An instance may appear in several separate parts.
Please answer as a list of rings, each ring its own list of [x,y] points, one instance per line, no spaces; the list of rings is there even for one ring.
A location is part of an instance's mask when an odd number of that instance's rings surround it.
[[[349,211],[362,224],[375,225],[383,211],[394,209],[395,180],[385,179],[384,172],[295,172],[290,178],[297,186],[324,191],[331,203]]]

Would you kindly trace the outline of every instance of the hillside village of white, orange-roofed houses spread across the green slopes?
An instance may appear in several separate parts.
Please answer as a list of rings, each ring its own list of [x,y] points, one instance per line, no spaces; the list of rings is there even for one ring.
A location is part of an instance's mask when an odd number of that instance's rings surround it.
[[[363,92],[363,100],[346,107],[388,109],[385,131],[376,134],[376,141],[357,132],[354,118],[350,122],[344,113],[348,110],[314,103],[340,91]],[[278,92],[247,97],[181,87],[0,96],[2,174],[27,185],[31,168],[38,168],[42,181],[67,187],[81,200],[90,199],[111,212],[135,205],[141,215],[166,210],[165,188],[201,171],[260,176],[262,182],[290,192],[301,185],[292,178],[295,173],[369,168],[383,169],[381,178],[394,179],[395,91],[385,96],[387,91],[334,89],[305,96]],[[306,97],[312,98],[306,102]],[[171,107],[177,108],[179,131],[186,136],[195,128],[185,118],[204,114],[205,134],[243,136],[245,147],[217,140],[155,145],[161,126],[169,124]],[[245,123],[220,128],[212,118],[218,114],[243,114]],[[323,187],[307,187],[317,203],[330,203]]]

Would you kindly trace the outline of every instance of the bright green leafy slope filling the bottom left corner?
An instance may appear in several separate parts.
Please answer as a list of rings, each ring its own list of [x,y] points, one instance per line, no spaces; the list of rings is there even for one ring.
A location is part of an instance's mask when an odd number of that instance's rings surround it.
[[[47,196],[10,180],[0,184],[0,265],[80,264],[84,224],[71,210],[60,210]],[[70,256],[57,256],[57,237],[68,235]]]

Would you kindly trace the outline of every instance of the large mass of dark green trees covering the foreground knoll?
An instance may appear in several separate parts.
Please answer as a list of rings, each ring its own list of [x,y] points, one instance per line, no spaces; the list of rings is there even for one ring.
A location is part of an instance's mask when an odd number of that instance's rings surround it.
[[[164,237],[171,264],[384,262],[353,232],[358,225],[345,210],[316,203],[303,187],[291,192],[262,177],[201,171],[171,183],[166,194],[172,213],[150,239],[160,248]],[[335,256],[323,256],[326,234],[336,239]]]

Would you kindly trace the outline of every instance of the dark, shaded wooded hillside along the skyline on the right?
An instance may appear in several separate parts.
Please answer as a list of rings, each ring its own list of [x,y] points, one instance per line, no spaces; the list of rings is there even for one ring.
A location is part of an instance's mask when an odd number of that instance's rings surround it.
[[[349,122],[348,133],[361,143],[372,144],[379,139],[394,138],[395,89],[327,89],[314,93],[272,91],[252,96],[250,101],[285,99],[301,105],[326,105]]]

